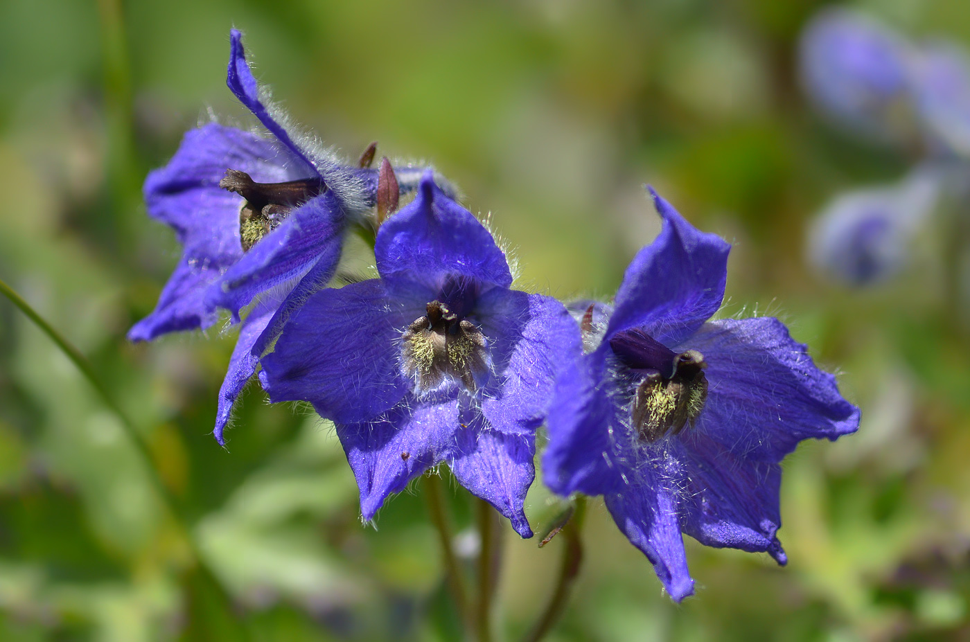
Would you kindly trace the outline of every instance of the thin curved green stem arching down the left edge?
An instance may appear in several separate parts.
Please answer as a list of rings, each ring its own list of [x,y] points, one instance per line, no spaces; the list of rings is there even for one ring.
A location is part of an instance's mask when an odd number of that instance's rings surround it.
[[[193,562],[196,564],[200,574],[214,584],[226,612],[235,618],[229,595],[225,593],[225,589],[223,589],[221,583],[218,582],[209,565],[203,560],[195,538],[192,536],[191,530],[189,530],[185,520],[182,518],[181,511],[178,509],[178,501],[176,500],[175,496],[172,495],[169,488],[165,485],[165,482],[162,481],[162,477],[158,472],[158,467],[155,465],[154,459],[151,457],[151,451],[149,450],[148,444],[146,443],[145,438],[142,436],[142,433],[139,433],[138,429],[135,428],[135,424],[131,421],[131,419],[129,419],[127,413],[125,413],[124,410],[121,409],[121,406],[114,401],[108,387],[102,383],[100,378],[98,378],[98,375],[91,367],[91,363],[87,361],[83,354],[81,354],[81,350],[76,348],[70,341],[67,340],[66,337],[57,332],[57,330],[48,323],[47,319],[41,316],[37,310],[31,307],[31,305],[23,299],[23,297],[17,294],[16,290],[7,285],[7,283],[2,279],[0,279],[0,294],[3,294],[3,296],[5,296],[12,304],[16,305],[16,307],[23,312],[23,314],[30,319],[35,326],[40,328],[41,331],[47,335],[51,341],[53,341],[61,352],[63,352],[67,358],[71,360],[71,363],[81,370],[81,374],[85,379],[87,379],[88,383],[92,388],[94,388],[95,392],[98,393],[101,401],[103,401],[118,418],[125,435],[127,435],[128,440],[135,447],[135,451],[138,453],[139,458],[142,460],[142,464],[145,466],[145,470],[153,490],[158,495],[158,498],[161,500],[166,511],[170,514],[176,527],[181,532],[185,544],[188,546]]]

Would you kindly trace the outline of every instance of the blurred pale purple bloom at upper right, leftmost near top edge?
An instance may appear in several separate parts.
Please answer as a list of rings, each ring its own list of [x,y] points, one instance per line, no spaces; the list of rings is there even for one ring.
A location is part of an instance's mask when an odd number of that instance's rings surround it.
[[[799,64],[824,112],[854,131],[898,142],[914,127],[910,54],[889,28],[839,8],[825,10],[805,29]]]

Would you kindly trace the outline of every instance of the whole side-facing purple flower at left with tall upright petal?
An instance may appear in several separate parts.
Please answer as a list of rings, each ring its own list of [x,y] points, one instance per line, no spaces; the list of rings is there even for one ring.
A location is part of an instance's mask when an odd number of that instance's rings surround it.
[[[219,391],[219,443],[256,357],[292,307],[333,276],[343,231],[372,208],[378,182],[376,170],[341,165],[295,134],[253,78],[241,38],[233,30],[227,84],[270,136],[210,123],[148,175],[148,214],[173,227],[184,249],[155,310],[128,333],[142,341],[205,329],[220,307],[239,322],[254,304]],[[412,190],[422,173],[400,168],[401,189]]]

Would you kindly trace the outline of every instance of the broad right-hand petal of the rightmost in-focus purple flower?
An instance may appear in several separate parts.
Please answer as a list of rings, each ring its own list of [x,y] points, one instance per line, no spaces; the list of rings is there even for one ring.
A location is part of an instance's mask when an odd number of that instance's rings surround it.
[[[712,321],[676,349],[689,348],[704,355],[708,381],[692,430],[736,457],[778,463],[802,439],[858,428],[858,408],[778,319]]]

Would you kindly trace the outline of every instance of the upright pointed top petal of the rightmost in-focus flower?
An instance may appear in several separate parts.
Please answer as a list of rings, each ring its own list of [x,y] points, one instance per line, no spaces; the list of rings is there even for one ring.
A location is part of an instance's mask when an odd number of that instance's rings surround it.
[[[689,337],[721,306],[730,245],[698,231],[650,189],[663,229],[630,262],[606,338],[642,328],[665,345]]]

